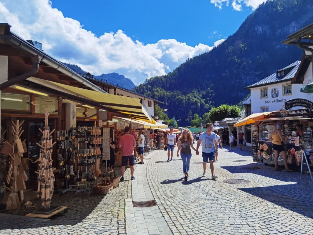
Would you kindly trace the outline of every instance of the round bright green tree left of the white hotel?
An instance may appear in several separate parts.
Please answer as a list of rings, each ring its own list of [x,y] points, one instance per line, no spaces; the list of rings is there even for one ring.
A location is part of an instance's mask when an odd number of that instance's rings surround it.
[[[220,121],[223,118],[237,118],[240,115],[240,108],[237,105],[222,104],[216,108],[212,108],[206,118],[214,123]],[[207,120],[206,120],[207,121]]]

